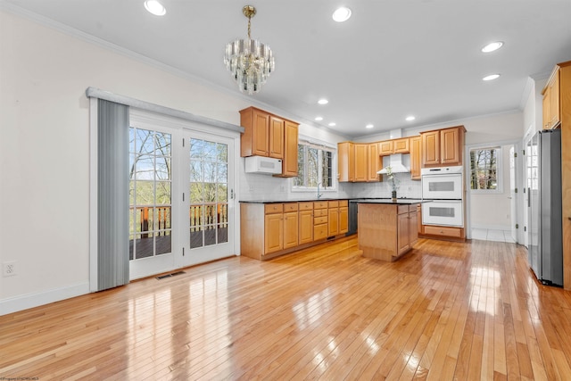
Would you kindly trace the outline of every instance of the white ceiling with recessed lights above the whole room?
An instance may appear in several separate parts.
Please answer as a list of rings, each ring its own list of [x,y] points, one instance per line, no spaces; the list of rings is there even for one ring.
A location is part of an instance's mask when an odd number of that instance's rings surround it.
[[[162,17],[143,0],[3,1],[236,94],[224,47],[246,37],[252,4],[252,37],[276,56],[252,97],[346,137],[515,111],[528,77],[571,60],[571,0],[162,0]],[[349,21],[332,20],[338,5]],[[480,52],[494,40],[501,50]],[[482,81],[491,73],[500,79]]]

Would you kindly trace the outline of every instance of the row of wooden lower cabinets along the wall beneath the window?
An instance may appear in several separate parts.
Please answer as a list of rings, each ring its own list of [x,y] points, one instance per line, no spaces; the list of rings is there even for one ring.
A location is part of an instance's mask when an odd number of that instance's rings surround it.
[[[292,253],[348,231],[348,201],[335,201],[332,221],[336,233],[329,235],[327,201],[294,203],[240,203],[240,251],[257,260]],[[339,207],[342,205],[342,207]]]

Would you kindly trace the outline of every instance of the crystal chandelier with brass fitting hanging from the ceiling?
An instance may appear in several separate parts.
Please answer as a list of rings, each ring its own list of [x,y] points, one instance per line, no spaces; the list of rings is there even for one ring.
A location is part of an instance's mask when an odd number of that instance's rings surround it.
[[[261,85],[274,71],[274,55],[269,46],[250,37],[250,21],[256,14],[256,8],[246,5],[242,12],[248,18],[248,39],[229,42],[224,63],[236,79],[240,91],[252,95],[260,91]]]

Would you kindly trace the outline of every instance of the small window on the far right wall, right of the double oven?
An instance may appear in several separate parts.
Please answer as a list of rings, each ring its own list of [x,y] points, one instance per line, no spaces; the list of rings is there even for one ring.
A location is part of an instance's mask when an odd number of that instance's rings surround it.
[[[470,150],[470,189],[500,190],[501,147]]]

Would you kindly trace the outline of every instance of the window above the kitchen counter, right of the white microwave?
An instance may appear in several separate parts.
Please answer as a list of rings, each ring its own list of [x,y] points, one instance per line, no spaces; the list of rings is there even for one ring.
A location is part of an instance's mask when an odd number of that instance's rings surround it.
[[[294,188],[333,189],[333,149],[308,143],[297,146],[297,177]]]

